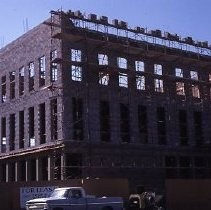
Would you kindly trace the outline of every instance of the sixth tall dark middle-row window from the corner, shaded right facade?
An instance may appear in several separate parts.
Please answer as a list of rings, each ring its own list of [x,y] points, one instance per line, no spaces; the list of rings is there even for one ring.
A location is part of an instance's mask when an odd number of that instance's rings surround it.
[[[187,112],[185,110],[179,110],[179,139],[180,145],[188,145],[188,121]]]

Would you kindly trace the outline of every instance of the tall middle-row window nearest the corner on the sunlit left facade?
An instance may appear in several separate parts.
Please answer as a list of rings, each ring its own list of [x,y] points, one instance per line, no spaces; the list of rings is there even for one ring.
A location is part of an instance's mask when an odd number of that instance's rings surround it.
[[[57,99],[52,99],[50,102],[51,108],[51,139],[58,139],[58,110],[57,110]]]

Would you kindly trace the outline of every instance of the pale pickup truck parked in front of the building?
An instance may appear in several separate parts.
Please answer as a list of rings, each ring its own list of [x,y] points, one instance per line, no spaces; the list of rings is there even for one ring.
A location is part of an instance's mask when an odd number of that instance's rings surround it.
[[[123,210],[123,200],[89,196],[82,187],[64,187],[56,188],[48,198],[27,201],[26,210]]]

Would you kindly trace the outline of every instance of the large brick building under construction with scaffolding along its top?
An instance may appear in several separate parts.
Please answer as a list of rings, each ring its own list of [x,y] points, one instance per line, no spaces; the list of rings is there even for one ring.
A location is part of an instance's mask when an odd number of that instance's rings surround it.
[[[211,177],[211,48],[79,11],[0,50],[0,180]]]

